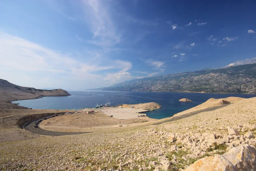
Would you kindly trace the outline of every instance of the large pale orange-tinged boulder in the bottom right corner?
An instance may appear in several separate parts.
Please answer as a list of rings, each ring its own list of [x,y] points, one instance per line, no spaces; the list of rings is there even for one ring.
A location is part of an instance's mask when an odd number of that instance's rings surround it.
[[[241,145],[232,148],[224,155],[205,157],[190,165],[185,171],[255,171],[256,148]]]

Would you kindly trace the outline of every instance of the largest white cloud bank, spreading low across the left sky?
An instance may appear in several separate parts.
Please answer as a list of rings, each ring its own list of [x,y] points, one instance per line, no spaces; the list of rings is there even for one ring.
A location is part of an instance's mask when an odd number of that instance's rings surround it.
[[[103,70],[126,72],[132,67],[131,62],[128,61],[102,59],[101,57],[99,57],[100,60],[99,58],[93,59],[94,55],[88,53],[85,57],[79,59],[78,56],[66,55],[63,52],[48,49],[23,38],[0,32],[0,78],[12,81],[17,78],[17,73],[20,73],[20,75],[26,74],[30,82],[20,80],[19,83],[24,86],[40,88],[43,82],[51,80],[41,80],[40,78],[47,77],[55,77],[56,80],[55,83],[51,83],[52,85],[48,85],[50,87],[57,87],[56,84],[61,83],[61,86],[64,86],[64,84],[67,84],[67,87],[70,86],[69,81],[65,81],[66,78],[67,80],[90,81],[91,84],[87,84],[87,86],[93,86],[93,82],[99,85],[99,78],[103,76],[93,72]],[[8,74],[3,74],[3,71],[8,71]],[[58,75],[65,75],[63,76],[65,79]]]

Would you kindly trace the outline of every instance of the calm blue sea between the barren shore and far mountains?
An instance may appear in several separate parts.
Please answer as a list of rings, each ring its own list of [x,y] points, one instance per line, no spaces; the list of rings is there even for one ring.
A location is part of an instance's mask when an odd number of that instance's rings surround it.
[[[172,92],[113,92],[113,91],[69,91],[72,96],[43,97],[41,99],[15,101],[21,106],[33,109],[83,109],[105,104],[108,100],[111,106],[117,104],[137,104],[146,102],[159,103],[162,108],[148,112],[147,116],[163,119],[175,113],[195,107],[210,98],[225,98],[230,96],[251,98],[249,94],[211,94],[211,93],[172,93]],[[180,102],[180,98],[187,98],[193,102]]]

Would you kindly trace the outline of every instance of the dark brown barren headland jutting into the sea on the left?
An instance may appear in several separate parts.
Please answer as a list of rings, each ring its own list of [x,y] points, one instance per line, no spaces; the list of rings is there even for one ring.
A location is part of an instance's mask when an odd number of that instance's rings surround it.
[[[41,90],[32,87],[21,87],[0,79],[0,108],[2,109],[27,109],[9,103],[9,101],[38,99],[42,96],[70,96],[70,94],[62,89]]]

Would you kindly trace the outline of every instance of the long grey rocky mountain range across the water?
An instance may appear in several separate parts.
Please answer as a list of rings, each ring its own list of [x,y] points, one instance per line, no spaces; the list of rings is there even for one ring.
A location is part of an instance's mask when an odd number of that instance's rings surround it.
[[[256,64],[152,76],[90,90],[256,93]]]

